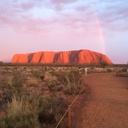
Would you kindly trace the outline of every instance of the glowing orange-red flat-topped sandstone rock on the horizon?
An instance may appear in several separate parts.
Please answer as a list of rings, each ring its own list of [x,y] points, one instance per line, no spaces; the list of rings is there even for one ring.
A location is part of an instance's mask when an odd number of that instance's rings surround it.
[[[43,63],[43,64],[90,64],[106,61],[111,64],[111,60],[104,54],[90,50],[76,50],[64,52],[36,52],[29,54],[16,54],[12,63]]]

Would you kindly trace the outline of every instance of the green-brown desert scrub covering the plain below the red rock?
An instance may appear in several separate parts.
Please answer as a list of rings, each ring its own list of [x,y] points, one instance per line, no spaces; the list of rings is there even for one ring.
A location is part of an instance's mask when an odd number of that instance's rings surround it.
[[[81,71],[79,72],[79,67]],[[72,100],[86,86],[90,73],[128,76],[126,66],[5,65],[0,66],[0,127],[54,128]],[[60,124],[67,127],[67,117]]]

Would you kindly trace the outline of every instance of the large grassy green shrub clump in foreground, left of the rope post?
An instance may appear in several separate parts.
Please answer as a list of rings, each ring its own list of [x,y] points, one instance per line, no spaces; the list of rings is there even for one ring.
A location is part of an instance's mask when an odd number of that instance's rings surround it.
[[[56,96],[35,94],[12,96],[7,103],[5,115],[0,117],[1,128],[50,128],[67,108],[67,102]]]

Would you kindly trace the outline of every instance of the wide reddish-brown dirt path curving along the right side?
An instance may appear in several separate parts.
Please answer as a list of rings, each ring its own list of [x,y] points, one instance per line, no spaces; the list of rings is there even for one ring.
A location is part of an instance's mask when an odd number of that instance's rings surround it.
[[[77,128],[128,128],[128,78],[89,74],[91,100],[81,106]]]

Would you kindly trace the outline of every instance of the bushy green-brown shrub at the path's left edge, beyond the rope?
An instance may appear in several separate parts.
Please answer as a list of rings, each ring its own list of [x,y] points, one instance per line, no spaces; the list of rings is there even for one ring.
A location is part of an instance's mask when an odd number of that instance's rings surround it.
[[[65,94],[78,94],[83,87],[82,75],[76,70],[55,72],[54,75],[63,85]]]

